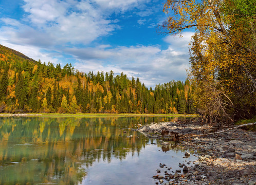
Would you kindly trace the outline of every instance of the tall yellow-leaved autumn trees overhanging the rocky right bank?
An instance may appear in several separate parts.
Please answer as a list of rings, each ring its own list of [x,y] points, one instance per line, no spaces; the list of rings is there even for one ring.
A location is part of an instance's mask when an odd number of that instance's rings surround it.
[[[164,4],[163,11],[172,14],[159,26],[162,33],[195,31],[190,45],[191,79],[205,122],[233,122],[255,115],[256,11],[250,10],[255,10],[252,2],[167,0]]]

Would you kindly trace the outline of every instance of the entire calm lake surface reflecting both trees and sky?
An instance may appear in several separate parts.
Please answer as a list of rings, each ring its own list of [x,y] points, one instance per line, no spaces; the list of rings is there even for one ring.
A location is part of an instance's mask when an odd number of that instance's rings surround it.
[[[155,184],[185,151],[131,128],[173,119],[185,118],[0,117],[0,184]]]

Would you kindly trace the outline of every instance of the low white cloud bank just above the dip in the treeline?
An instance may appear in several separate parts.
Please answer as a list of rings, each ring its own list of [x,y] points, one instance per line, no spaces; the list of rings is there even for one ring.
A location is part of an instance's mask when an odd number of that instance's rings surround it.
[[[73,48],[66,51],[79,62],[76,68],[88,71],[124,72],[130,79],[139,77],[147,86],[166,83],[171,80],[185,80],[189,69],[188,43],[192,32],[184,32],[184,37],[167,36],[167,49],[160,46],[119,46],[116,48]],[[99,57],[101,56],[101,57]]]

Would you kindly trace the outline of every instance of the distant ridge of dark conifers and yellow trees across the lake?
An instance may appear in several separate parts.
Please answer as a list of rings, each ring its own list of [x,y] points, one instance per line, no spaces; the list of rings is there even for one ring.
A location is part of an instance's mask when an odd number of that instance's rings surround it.
[[[61,68],[0,45],[2,113],[195,113],[187,80],[147,88],[121,73]]]

